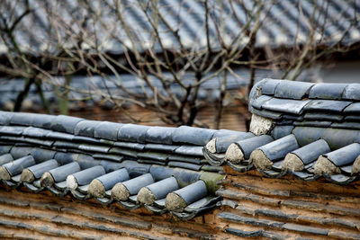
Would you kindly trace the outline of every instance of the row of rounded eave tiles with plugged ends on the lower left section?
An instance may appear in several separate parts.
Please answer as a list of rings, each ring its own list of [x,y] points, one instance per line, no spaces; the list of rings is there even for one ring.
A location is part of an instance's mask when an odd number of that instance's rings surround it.
[[[9,153],[0,156],[0,164],[0,179],[11,187],[23,183],[31,191],[48,189],[58,196],[71,192],[77,199],[94,197],[103,204],[115,201],[128,209],[145,205],[152,212],[171,211],[182,218],[193,218],[199,211],[215,207],[219,200],[214,196],[216,181],[223,178],[218,173],[134,161],[102,161],[84,168],[81,161],[37,162],[33,156],[14,160]]]

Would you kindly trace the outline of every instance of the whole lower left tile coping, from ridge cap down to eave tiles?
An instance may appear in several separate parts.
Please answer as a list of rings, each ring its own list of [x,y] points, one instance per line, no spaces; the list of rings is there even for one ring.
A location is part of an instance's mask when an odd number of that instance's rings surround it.
[[[242,134],[6,111],[0,123],[0,178],[8,186],[127,209],[144,205],[182,219],[220,200],[214,192],[221,168],[207,164],[202,147],[214,137]]]

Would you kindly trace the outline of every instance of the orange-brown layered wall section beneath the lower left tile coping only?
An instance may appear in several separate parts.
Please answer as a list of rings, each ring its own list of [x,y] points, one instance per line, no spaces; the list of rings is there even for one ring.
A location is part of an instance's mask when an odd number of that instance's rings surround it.
[[[220,239],[212,213],[183,222],[145,208],[109,207],[95,200],[57,198],[0,186],[0,238],[16,239]]]

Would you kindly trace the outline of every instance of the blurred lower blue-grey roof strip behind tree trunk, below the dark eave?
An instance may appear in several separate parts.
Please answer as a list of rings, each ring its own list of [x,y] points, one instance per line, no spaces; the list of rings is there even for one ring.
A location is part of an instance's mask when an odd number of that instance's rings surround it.
[[[164,73],[166,76],[169,73]],[[309,76],[310,74],[305,74]],[[250,78],[250,70],[241,68],[234,69],[232,73],[227,75],[226,90],[228,92],[236,91],[241,87],[244,87],[248,84],[248,79]],[[146,95],[152,97],[154,92],[147,84],[143,84],[142,80],[139,80],[136,76],[130,74],[122,74],[121,76],[73,76],[71,83],[68,85],[68,101],[70,102],[69,108],[76,109],[78,107],[77,102],[83,100],[85,106],[88,108],[93,107],[94,105],[103,105],[105,108],[112,107],[111,102],[103,102],[102,96],[98,91],[103,91],[103,93],[111,93],[114,97],[126,97],[129,93],[134,93],[139,96]],[[274,73],[266,70],[257,70],[256,80],[259,81],[265,77],[275,77]],[[310,77],[310,76],[309,76]],[[56,77],[58,85],[66,86],[66,80],[62,76]],[[169,76],[170,79],[170,76]],[[181,80],[185,85],[190,85],[195,82],[195,76],[193,73],[185,73],[182,76]],[[119,82],[121,81],[121,87]],[[152,86],[157,88],[157,93],[162,93],[167,96],[167,92],[164,89],[164,85],[156,76],[149,76],[148,80]],[[170,81],[170,89],[172,93],[175,93],[179,98],[182,98],[185,95],[184,88],[179,84]],[[201,84],[198,101],[207,101],[215,102],[219,99],[220,96],[220,85],[222,82],[222,76],[211,77],[208,81]],[[25,84],[25,79],[23,78],[0,78],[0,110],[9,110],[9,108],[14,105],[16,97],[19,93],[23,92],[23,85]],[[49,84],[46,82],[42,83],[43,97],[49,103],[58,102],[58,85]],[[125,93],[123,89],[126,89],[128,93]],[[71,103],[75,104],[71,104]],[[36,111],[41,108],[41,98],[40,93],[35,85],[31,85],[29,93],[26,95],[25,103],[23,104],[22,110],[26,111]]]

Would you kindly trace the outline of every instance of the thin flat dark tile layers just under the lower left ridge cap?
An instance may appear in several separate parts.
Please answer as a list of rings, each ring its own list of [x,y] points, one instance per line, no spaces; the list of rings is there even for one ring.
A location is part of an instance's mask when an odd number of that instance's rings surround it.
[[[142,164],[168,165],[193,171],[221,171],[220,167],[207,164],[200,146],[114,142],[26,126],[3,126],[0,127],[0,133],[1,144],[31,145],[48,149],[47,151],[57,150],[64,153],[85,153],[96,161],[121,162],[128,159]]]

